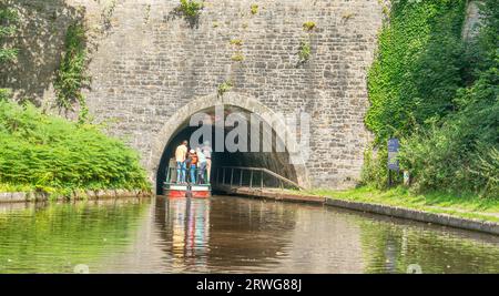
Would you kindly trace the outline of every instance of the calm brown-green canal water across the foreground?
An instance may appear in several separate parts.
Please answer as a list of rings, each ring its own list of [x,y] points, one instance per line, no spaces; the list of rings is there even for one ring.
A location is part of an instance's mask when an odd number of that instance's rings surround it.
[[[499,237],[232,196],[0,204],[0,273],[499,273]]]

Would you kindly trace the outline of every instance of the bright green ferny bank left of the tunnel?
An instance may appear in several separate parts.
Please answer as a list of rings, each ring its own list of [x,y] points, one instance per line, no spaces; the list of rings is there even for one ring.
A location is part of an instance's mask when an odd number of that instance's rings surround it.
[[[0,184],[70,195],[77,188],[147,188],[138,154],[95,125],[0,101]]]

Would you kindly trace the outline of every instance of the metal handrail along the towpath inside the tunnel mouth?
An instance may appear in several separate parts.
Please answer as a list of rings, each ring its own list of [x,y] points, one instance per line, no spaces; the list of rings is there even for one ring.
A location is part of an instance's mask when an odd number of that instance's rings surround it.
[[[292,185],[293,187],[296,187],[296,188],[298,188],[298,190],[305,190],[305,188],[302,187],[298,183],[296,183],[296,182],[294,182],[294,181],[292,181],[292,180],[289,180],[289,178],[286,178],[286,177],[282,176],[282,175],[279,175],[279,174],[277,174],[277,173],[275,173],[275,172],[273,172],[273,171],[271,171],[271,170],[268,170],[268,169],[265,169],[265,167],[221,166],[221,167],[218,167],[217,171],[216,171],[216,183],[217,183],[217,184],[220,184],[220,170],[221,170],[221,169],[222,169],[222,173],[223,173],[222,184],[226,184],[226,177],[225,177],[225,175],[226,175],[226,173],[225,173],[226,170],[230,170],[230,171],[231,171],[231,183],[230,183],[231,187],[232,187],[233,184],[234,184],[234,171],[235,171],[235,170],[240,170],[240,171],[241,171],[241,172],[240,172],[240,182],[238,182],[238,185],[240,185],[240,186],[243,185],[243,172],[244,172],[244,171],[247,171],[247,172],[249,172],[249,187],[253,187],[253,176],[254,176],[254,172],[259,172],[259,173],[261,173],[261,178],[259,178],[261,183],[259,183],[259,186],[261,186],[262,188],[264,187],[263,175],[264,175],[264,174],[268,174],[268,175],[271,175],[271,176],[273,176],[273,177],[275,177],[275,178],[277,178],[277,180],[279,181],[281,188],[284,188],[284,184],[283,184],[283,183],[287,183],[287,184],[289,184],[289,185]]]

